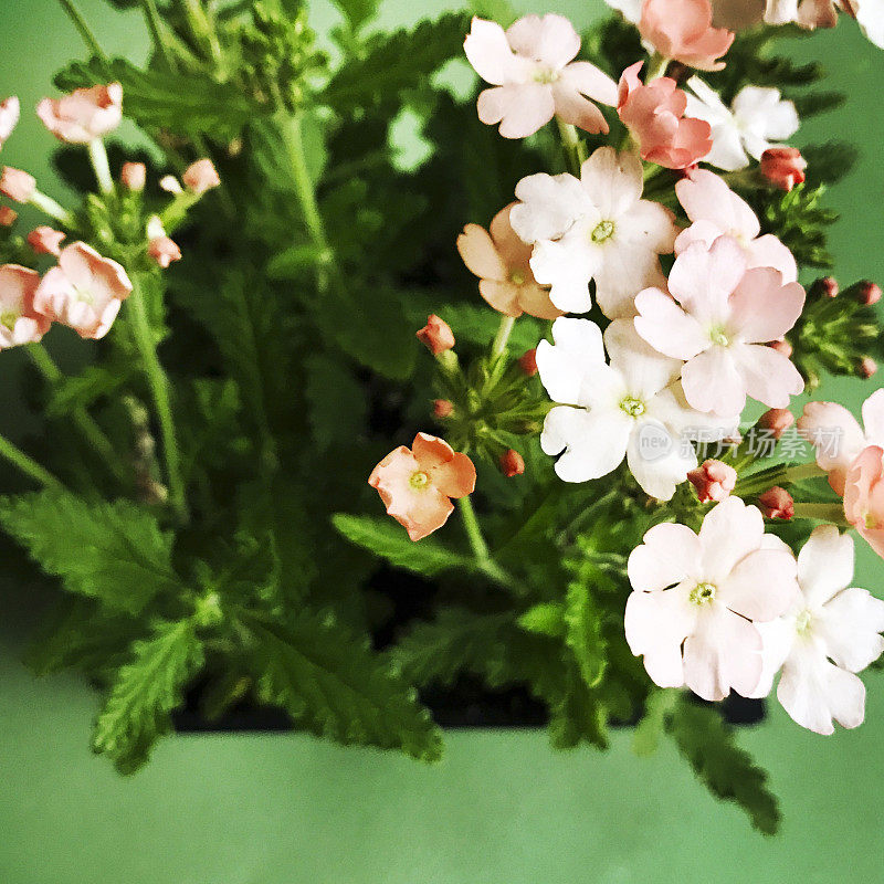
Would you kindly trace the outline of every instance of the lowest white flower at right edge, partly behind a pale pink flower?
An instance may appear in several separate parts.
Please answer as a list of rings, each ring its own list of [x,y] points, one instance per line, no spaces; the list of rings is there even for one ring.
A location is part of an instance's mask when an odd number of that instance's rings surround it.
[[[798,556],[801,594],[781,618],[759,627],[765,667],[754,696],[767,696],[781,669],[777,698],[802,727],[856,727],[865,687],[854,675],[884,651],[884,601],[853,579],[853,540],[834,525],[814,529]]]

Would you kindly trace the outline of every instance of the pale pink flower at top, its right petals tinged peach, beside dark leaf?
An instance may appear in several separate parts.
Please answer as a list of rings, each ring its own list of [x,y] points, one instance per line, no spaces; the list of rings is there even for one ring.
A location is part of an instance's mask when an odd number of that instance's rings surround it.
[[[476,73],[494,86],[478,96],[478,118],[488,126],[499,123],[504,138],[527,138],[554,116],[587,131],[608,131],[589,98],[613,105],[617,86],[594,64],[571,61],[580,38],[561,15],[526,15],[507,31],[474,18],[463,48]]]

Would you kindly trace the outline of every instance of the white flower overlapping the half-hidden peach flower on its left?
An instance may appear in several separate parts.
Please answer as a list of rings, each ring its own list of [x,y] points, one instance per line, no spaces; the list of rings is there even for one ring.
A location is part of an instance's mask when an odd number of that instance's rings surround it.
[[[678,229],[673,213],[643,200],[642,164],[633,154],[600,147],[571,175],[532,175],[516,187],[522,201],[509,220],[534,244],[532,271],[550,285],[566,313],[592,306],[589,281],[606,316],[634,316],[633,298],[663,281],[659,255],[672,252]]]

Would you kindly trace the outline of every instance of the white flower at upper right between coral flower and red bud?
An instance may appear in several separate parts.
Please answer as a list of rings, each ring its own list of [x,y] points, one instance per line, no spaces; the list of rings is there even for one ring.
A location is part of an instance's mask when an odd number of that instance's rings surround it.
[[[779,90],[744,86],[728,108],[699,77],[692,76],[687,85],[694,94],[687,94],[685,115],[712,126],[713,146],[704,162],[718,169],[745,169],[749,157],[760,159],[774,141],[798,131],[798,112]]]

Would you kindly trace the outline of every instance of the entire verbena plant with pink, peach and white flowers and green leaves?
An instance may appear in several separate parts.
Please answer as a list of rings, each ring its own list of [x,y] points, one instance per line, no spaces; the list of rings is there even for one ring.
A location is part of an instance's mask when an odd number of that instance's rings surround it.
[[[841,101],[778,54],[800,31],[645,0],[581,41],[560,17],[505,34],[505,1],[383,32],[337,0],[317,43],[299,0],[108,2],[144,11],[148,64],[62,0],[87,59],[39,110],[80,204],[0,182],[48,217],[25,239],[2,210],[0,337],[45,432],[0,442],[38,486],[0,522],[63,590],[29,661],[104,692],[94,749],[137,769],[190,693],[434,761],[419,692],[477,681],[527,688],[558,748],[670,735],[774,832],[765,774],[678,688],[762,695],[781,669],[799,724],[855,726],[884,628],[839,532],[882,549],[880,399],[865,435],[806,410],[817,464],[783,408],[881,348],[876,286],[796,282],[831,265],[853,157],[772,144]],[[105,148],[124,113],[149,149]],[[51,326],[94,341],[78,373]],[[746,392],[775,408],[741,418]]]

